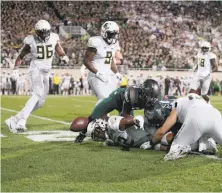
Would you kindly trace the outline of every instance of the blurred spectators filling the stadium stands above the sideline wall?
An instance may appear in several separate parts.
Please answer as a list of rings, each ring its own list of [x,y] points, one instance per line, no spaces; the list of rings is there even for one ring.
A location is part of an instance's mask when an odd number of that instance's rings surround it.
[[[106,20],[116,21],[124,65],[130,68],[193,68],[203,39],[211,42],[222,65],[221,1],[4,1],[1,11],[2,67],[13,66],[22,40],[39,19],[48,20],[57,33],[59,26],[72,25],[82,26],[90,36],[99,35]],[[53,67],[80,67],[86,43],[86,37],[75,34],[62,38],[71,60],[64,66],[55,57]]]

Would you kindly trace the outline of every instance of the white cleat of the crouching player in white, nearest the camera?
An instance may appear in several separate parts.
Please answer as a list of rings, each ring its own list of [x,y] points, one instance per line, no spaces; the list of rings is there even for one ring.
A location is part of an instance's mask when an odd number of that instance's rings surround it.
[[[165,161],[179,159],[181,157],[185,157],[191,151],[191,147],[189,145],[180,146],[174,145],[170,148],[168,154],[164,156]]]

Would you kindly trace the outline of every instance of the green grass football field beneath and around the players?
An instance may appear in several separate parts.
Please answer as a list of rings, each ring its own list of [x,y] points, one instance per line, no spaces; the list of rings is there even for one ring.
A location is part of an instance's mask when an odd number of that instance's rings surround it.
[[[1,99],[2,108],[18,111],[28,97]],[[222,112],[222,97],[213,97],[212,104]],[[94,105],[94,97],[49,96],[34,115],[69,123],[77,116],[88,116]],[[222,191],[222,161],[189,155],[166,162],[164,152],[126,152],[92,141],[82,145],[37,142],[28,135],[9,133],[4,120],[14,114],[1,110],[2,192]],[[68,130],[65,123],[32,116],[27,127],[29,131]],[[217,156],[222,157],[221,147]]]

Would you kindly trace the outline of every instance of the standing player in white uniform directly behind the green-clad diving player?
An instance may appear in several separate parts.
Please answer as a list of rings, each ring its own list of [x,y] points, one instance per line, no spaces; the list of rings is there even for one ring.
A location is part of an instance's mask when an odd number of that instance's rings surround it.
[[[89,38],[84,56],[84,65],[89,69],[88,82],[98,100],[106,98],[117,88],[122,75],[116,63],[122,63],[118,42],[119,26],[106,21],[101,27],[101,36]]]

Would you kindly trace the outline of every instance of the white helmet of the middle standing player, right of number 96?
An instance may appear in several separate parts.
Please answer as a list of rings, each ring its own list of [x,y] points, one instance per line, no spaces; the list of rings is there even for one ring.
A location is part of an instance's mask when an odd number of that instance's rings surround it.
[[[115,44],[119,38],[119,26],[114,21],[106,21],[101,27],[101,36],[108,44]]]

